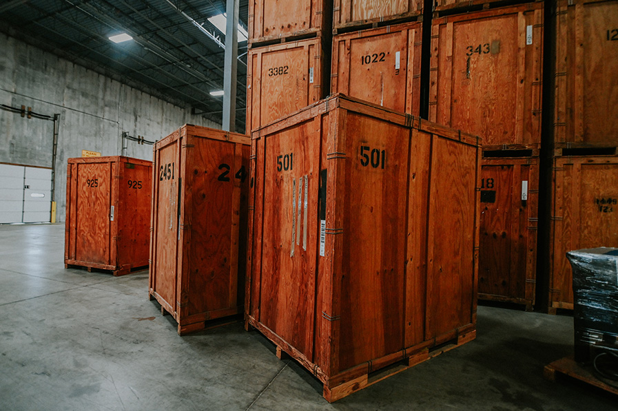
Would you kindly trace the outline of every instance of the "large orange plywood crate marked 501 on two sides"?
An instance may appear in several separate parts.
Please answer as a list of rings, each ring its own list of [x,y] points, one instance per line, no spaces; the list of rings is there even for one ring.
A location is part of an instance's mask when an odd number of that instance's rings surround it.
[[[477,138],[339,94],[251,138],[247,326],[328,401],[475,337]]]

